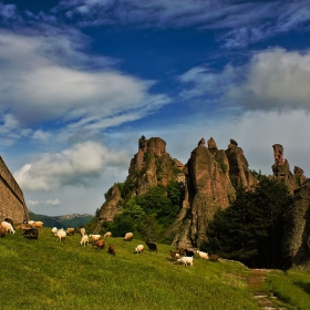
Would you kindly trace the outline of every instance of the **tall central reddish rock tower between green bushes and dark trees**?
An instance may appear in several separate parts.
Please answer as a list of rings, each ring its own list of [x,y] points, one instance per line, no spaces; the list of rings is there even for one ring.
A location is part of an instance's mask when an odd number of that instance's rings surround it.
[[[213,138],[208,141],[208,147],[202,138],[184,168],[186,196],[180,213],[184,220],[178,218],[175,223],[177,234],[174,246],[197,247],[206,240],[208,221],[218,208],[228,207],[229,199],[235,195],[228,172],[229,162],[225,152],[217,149]],[[190,221],[186,217],[188,211]]]

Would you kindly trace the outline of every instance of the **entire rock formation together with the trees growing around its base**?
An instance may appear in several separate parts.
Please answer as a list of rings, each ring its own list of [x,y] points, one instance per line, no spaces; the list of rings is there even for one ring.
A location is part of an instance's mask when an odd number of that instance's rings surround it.
[[[183,165],[162,138],[142,136],[126,180],[105,193],[89,227],[205,249],[250,267],[307,265],[310,180],[297,166],[290,172],[281,145],[272,147],[273,175],[264,176],[232,138],[225,151],[202,138]]]

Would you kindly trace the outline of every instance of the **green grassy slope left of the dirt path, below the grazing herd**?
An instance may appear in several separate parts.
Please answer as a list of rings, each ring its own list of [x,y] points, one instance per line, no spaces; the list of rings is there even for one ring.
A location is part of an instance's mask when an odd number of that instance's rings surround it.
[[[0,239],[1,309],[261,309],[249,270],[238,262],[195,257],[186,267],[172,264],[167,245],[136,255],[141,240],[106,238],[100,250],[80,246],[80,235],[60,242],[50,228],[39,230],[39,240],[19,231]],[[115,257],[107,254],[111,242]]]

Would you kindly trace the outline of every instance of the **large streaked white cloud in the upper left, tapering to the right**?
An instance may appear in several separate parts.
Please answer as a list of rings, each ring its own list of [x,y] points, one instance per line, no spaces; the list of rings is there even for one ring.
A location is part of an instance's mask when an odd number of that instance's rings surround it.
[[[83,45],[60,30],[51,28],[51,33],[42,34],[0,31],[0,111],[4,122],[0,133],[7,128],[17,138],[21,127],[45,121],[56,121],[59,127],[71,131],[99,131],[138,120],[169,103],[165,95],[149,94],[154,81],[123,74],[111,68],[113,61],[94,55],[96,70],[90,69],[80,51]],[[81,34],[79,38],[85,41]],[[49,135],[40,128],[33,137],[45,140]]]

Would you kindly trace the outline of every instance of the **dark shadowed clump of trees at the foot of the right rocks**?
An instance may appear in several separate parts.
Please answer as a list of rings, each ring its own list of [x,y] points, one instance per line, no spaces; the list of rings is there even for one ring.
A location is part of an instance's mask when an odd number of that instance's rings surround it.
[[[283,268],[283,227],[292,203],[283,183],[260,176],[257,186],[238,188],[232,204],[215,214],[203,248],[251,268]]]

